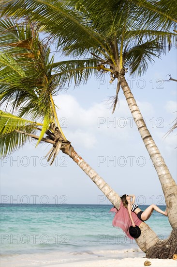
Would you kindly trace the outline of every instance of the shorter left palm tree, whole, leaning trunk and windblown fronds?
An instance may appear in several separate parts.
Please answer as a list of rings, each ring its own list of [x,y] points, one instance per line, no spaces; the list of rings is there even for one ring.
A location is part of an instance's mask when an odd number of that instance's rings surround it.
[[[6,19],[0,22],[3,28],[0,103],[8,102],[11,106],[11,113],[0,110],[0,155],[18,150],[31,138],[37,141],[37,145],[40,142],[51,144],[52,148],[46,155],[50,164],[61,150],[74,160],[118,209],[118,194],[77,154],[60,128],[53,100],[60,82],[53,72],[59,63],[54,63],[54,57],[49,59],[48,40],[41,41],[38,27],[27,21],[14,23]],[[95,61],[88,61],[88,65],[95,66]],[[38,119],[43,119],[43,123],[37,122]],[[136,242],[147,252],[152,247],[152,240],[157,242],[159,238],[146,223],[142,222],[140,227],[142,235]],[[142,242],[142,238],[146,242]]]

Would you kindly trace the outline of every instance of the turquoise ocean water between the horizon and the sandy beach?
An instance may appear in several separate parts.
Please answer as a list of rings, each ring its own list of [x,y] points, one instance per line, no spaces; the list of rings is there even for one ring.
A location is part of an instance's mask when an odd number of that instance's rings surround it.
[[[147,206],[139,206],[144,210]],[[159,206],[165,210],[165,206]],[[95,255],[95,251],[136,250],[138,246],[112,226],[112,205],[1,204],[0,246],[2,257],[57,252]],[[166,238],[168,218],[153,212],[148,225]],[[98,253],[97,253],[98,256]]]

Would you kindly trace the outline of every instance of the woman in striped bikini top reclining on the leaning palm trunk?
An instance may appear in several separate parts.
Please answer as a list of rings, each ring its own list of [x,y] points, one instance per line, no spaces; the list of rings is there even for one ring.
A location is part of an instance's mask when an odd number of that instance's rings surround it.
[[[150,206],[148,206],[148,208],[146,208],[145,211],[142,211],[137,204],[134,204],[135,201],[135,196],[134,195],[123,195],[120,198],[123,202],[123,205],[125,208],[127,208],[128,213],[129,213],[129,217],[132,221],[132,226],[135,227],[135,223],[132,217],[132,212],[135,213],[137,215],[137,217],[142,220],[142,221],[146,221],[148,220],[148,218],[152,215],[153,210],[162,213],[163,215],[167,216],[166,210],[162,211],[160,208],[158,208],[156,205],[152,204]],[[132,200],[131,200],[132,199]]]

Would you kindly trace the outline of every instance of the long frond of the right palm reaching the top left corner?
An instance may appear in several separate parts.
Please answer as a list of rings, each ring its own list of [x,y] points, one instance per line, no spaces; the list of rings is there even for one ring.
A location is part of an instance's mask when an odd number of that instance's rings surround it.
[[[30,15],[29,15],[30,14]],[[2,15],[13,17],[30,16],[33,21],[40,21],[42,30],[52,35],[59,46],[73,46],[74,43],[82,42],[82,53],[89,48],[102,46],[103,38],[100,33],[88,28],[89,22],[83,21],[82,14],[76,12],[67,2],[47,0],[13,0],[5,4]],[[77,34],[75,34],[77,32]],[[70,38],[68,38],[70,36]],[[81,46],[80,46],[81,48]],[[107,50],[109,54],[109,51]]]

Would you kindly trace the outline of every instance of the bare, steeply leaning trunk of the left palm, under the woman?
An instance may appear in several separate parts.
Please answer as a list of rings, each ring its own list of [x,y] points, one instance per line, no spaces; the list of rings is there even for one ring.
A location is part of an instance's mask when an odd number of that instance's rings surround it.
[[[65,145],[61,149],[63,153],[70,155],[74,162],[88,175],[88,177],[98,186],[108,200],[118,209],[120,205],[120,197],[118,194],[103,180],[98,173],[92,169],[88,163],[77,154],[74,148],[70,145]],[[145,223],[140,224],[141,235],[136,238],[135,241],[139,248],[144,252],[147,252],[152,246],[154,246],[159,238],[157,234]]]

